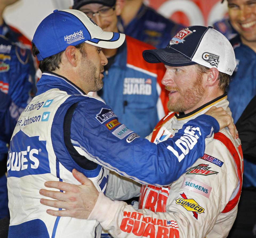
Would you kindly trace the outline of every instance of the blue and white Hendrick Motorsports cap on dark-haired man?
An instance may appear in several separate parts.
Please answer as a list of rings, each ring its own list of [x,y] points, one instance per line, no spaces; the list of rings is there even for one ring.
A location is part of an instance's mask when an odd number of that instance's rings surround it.
[[[115,49],[123,44],[125,34],[103,31],[83,12],[54,10],[37,27],[32,42],[39,50],[38,60],[64,51],[69,45],[86,42],[101,48]]]

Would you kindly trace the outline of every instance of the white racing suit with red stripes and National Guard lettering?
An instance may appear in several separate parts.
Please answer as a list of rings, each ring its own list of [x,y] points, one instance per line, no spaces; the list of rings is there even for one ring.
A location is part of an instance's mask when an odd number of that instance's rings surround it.
[[[222,95],[189,114],[169,113],[147,139],[154,143],[164,141],[210,106],[229,110],[228,104],[227,96]],[[113,237],[226,237],[235,220],[241,194],[243,162],[240,144],[239,138],[233,139],[227,128],[222,129],[215,133],[213,141],[206,143],[203,157],[169,187],[142,185],[138,210],[100,193],[89,219],[100,221]],[[108,193],[115,192],[127,199],[120,191],[136,190],[136,186],[127,180],[121,182],[118,179],[110,186],[113,181],[109,180]]]

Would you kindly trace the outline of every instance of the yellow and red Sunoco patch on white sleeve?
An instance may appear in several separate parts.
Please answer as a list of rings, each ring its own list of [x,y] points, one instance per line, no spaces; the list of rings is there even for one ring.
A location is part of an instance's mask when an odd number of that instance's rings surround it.
[[[184,192],[181,194],[181,198],[176,199],[176,204],[192,212],[195,219],[198,218],[198,214],[205,213],[205,209],[199,206],[194,199],[188,199]]]

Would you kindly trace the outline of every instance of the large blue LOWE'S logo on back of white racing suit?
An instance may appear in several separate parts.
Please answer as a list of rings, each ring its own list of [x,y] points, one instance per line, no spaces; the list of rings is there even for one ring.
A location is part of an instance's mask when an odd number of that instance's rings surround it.
[[[29,137],[20,130],[10,142],[7,177],[46,173],[50,173],[46,141],[39,141],[39,136]]]

